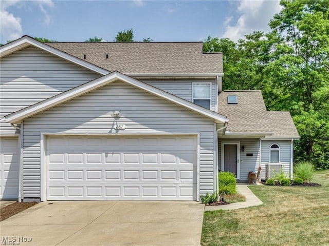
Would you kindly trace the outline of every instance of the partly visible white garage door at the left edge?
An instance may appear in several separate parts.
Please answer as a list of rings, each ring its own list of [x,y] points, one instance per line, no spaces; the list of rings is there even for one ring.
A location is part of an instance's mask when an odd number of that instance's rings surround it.
[[[0,138],[0,199],[18,198],[19,167],[18,138]]]

